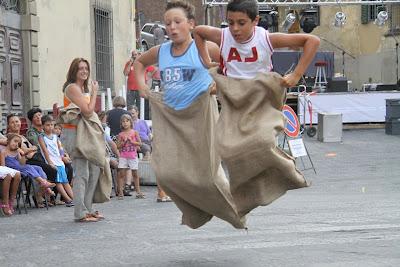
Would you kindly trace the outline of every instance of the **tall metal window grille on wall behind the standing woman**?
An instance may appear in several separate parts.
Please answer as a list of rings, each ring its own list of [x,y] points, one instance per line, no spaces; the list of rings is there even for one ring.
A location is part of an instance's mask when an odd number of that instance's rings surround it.
[[[114,87],[113,17],[111,7],[96,0],[94,6],[96,79],[99,89]]]

